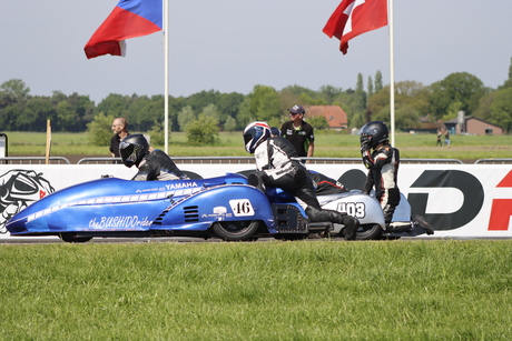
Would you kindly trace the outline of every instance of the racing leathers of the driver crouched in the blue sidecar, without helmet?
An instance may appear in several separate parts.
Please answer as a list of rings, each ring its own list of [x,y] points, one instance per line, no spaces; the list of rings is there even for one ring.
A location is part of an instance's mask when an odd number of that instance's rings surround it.
[[[188,180],[175,162],[161,150],[155,149],[140,161],[139,171],[131,180]]]

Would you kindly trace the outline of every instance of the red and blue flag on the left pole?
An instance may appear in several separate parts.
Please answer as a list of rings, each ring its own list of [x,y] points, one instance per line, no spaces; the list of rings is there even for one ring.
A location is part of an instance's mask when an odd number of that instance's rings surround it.
[[[120,0],[83,50],[88,59],[104,54],[125,56],[125,39],[163,29],[163,0]]]

